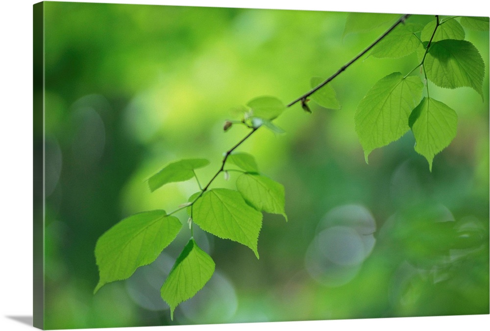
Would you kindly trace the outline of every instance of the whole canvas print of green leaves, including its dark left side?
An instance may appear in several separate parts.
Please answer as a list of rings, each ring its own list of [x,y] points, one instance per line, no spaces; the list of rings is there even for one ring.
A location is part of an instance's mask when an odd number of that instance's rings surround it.
[[[34,5],[34,326],[489,314],[489,18]]]

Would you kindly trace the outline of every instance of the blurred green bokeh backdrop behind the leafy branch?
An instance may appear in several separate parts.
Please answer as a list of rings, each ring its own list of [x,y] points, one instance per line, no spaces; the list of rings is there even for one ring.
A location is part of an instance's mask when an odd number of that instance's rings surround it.
[[[409,132],[373,151],[354,131],[357,104],[416,54],[364,57],[332,86],[341,110],[299,105],[240,148],[286,189],[265,214],[260,260],[195,230],[216,262],[177,307],[159,294],[190,237],[97,295],[97,238],[137,212],[172,211],[195,181],[150,193],[169,162],[207,158],[207,182],[245,129],[222,125],[260,95],[289,103],[367,47],[390,23],[343,35],[347,13],[45,2],[45,328],[96,328],[489,313],[489,32],[466,31],[485,61],[485,100],[469,88],[431,97],[458,113],[458,134],[432,172]],[[413,16],[425,24],[432,16]],[[424,92],[425,93],[425,92]],[[232,187],[222,178],[213,187]],[[177,213],[186,225],[185,212]]]

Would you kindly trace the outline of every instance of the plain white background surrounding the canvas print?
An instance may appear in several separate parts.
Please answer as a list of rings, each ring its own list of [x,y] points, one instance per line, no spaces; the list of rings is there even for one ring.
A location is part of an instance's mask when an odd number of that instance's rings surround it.
[[[0,326],[31,330],[32,319],[32,5],[0,9]],[[173,0],[80,1],[329,11],[490,16],[487,0]],[[488,75],[488,68],[487,75]],[[489,330],[490,315],[165,327],[165,330]],[[150,331],[151,328],[107,330]],[[100,329],[102,330],[102,329]]]

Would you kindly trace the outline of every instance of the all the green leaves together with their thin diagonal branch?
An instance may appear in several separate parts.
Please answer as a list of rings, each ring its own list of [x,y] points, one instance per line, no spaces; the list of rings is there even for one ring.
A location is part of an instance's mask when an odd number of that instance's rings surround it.
[[[345,32],[367,30],[393,17],[381,14],[371,15],[371,20],[360,20],[359,15],[362,14],[349,15]],[[449,17],[440,21],[436,16],[434,21],[421,26],[404,23],[406,17],[399,19],[388,31],[390,33],[385,33],[368,49],[372,47],[371,56],[378,58],[400,58],[417,52],[419,64],[406,75],[393,72],[380,79],[360,102],[354,118],[355,127],[366,162],[372,150],[394,142],[412,130],[416,139],[415,150],[427,159],[432,169],[434,156],[456,135],[457,115],[446,104],[431,98],[426,84],[427,95],[422,97],[424,81],[429,79],[436,86],[450,89],[467,86],[483,98],[485,65],[476,47],[464,40],[463,26],[488,30],[489,20],[462,17],[458,22],[456,18]],[[402,22],[404,24],[400,24]],[[193,178],[196,178],[199,190],[171,213],[163,210],[137,213],[100,236],[95,249],[100,280],[94,292],[104,284],[129,278],[138,267],[156,260],[180,232],[182,224],[172,214],[182,209],[189,214],[191,238],[161,287],[161,297],[169,304],[172,319],[175,308],[192,298],[211,279],[215,270],[213,259],[194,240],[194,224],[214,236],[249,247],[258,259],[262,213],[281,214],[287,220],[284,187],[261,174],[252,155],[235,152],[235,149],[260,127],[276,133],[284,132],[272,121],[286,107],[299,101],[305,111],[311,112],[307,103],[310,95],[322,107],[339,109],[335,91],[326,83],[359,57],[327,80],[312,78],[313,90],[287,106],[275,97],[262,96],[241,107],[241,119],[226,121],[223,129],[227,131],[233,125],[245,125],[250,131],[225,153],[221,168],[203,188],[197,179],[196,169],[209,165],[206,159],[176,161],[151,176],[148,180],[151,191],[168,183]],[[418,68],[420,74],[417,75]],[[219,174],[223,173],[225,179],[229,179],[229,171],[240,173],[236,179],[236,190],[210,189]]]

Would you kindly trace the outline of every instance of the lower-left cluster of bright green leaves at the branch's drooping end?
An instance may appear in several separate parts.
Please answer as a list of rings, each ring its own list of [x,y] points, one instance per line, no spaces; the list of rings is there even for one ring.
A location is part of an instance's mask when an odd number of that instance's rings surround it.
[[[280,129],[270,121],[285,108],[274,97],[258,97],[243,107],[244,116],[237,123],[247,126],[251,130],[249,135],[262,125],[277,132]],[[208,184],[204,188],[199,186],[200,190],[192,194],[179,209],[171,213],[154,210],[131,215],[99,237],[95,255],[100,280],[94,293],[104,284],[127,279],[138,267],[156,260],[180,232],[182,224],[172,214],[184,208],[189,214],[191,234],[193,225],[197,224],[212,235],[249,247],[259,258],[257,241],[262,228],[262,212],[281,214],[287,220],[284,212],[285,192],[281,184],[259,172],[252,155],[234,152],[240,143],[226,152],[221,168]],[[199,184],[195,170],[209,164],[206,159],[173,162],[148,179],[149,189],[154,191],[168,183],[192,178],[196,178]],[[229,171],[240,173],[236,178],[236,190],[209,189],[220,173],[229,179]],[[192,298],[211,279],[214,270],[213,259],[199,248],[191,235],[161,287],[161,297],[170,306],[172,319],[175,308]]]

